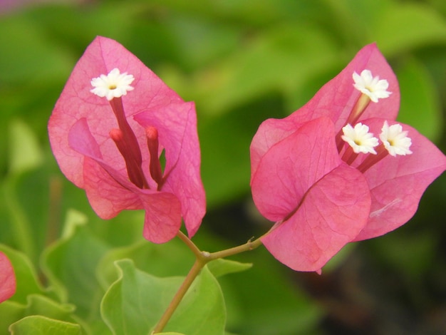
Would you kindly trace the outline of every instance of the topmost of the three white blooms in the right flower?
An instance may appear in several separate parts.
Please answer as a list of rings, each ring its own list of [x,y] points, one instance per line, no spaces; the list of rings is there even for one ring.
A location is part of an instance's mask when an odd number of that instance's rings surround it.
[[[385,91],[389,87],[388,81],[381,79],[379,76],[373,77],[370,70],[363,70],[361,76],[353,72],[353,86],[361,93],[367,95],[374,103],[378,99],[388,98],[392,92]]]

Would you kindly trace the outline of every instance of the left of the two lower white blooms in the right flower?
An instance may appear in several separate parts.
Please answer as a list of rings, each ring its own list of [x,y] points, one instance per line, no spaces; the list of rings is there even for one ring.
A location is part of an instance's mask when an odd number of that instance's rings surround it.
[[[372,133],[368,132],[368,126],[357,123],[353,128],[350,123],[342,128],[341,138],[353,148],[355,153],[373,153],[376,155],[375,148],[378,145],[378,138],[374,138]]]

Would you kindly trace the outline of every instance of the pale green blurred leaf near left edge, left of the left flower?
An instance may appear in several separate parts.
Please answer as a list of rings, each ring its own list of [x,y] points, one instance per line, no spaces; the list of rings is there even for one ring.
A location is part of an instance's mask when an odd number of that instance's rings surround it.
[[[21,120],[9,124],[9,172],[19,175],[43,163],[43,153],[36,135]]]

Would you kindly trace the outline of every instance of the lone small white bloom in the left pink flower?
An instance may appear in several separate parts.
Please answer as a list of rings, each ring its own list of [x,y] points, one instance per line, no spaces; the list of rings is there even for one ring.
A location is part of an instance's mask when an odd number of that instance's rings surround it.
[[[101,74],[98,78],[91,80],[91,86],[94,88],[90,92],[110,101],[113,98],[125,96],[128,91],[132,91],[133,87],[130,84],[134,80],[135,78],[131,74],[120,73],[118,68],[113,68],[107,76]]]

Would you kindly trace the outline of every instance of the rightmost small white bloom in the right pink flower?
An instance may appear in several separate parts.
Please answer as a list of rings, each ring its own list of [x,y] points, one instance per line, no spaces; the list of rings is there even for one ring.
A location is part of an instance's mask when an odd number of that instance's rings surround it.
[[[388,153],[395,157],[396,155],[410,155],[412,151],[409,150],[412,145],[412,140],[408,138],[408,132],[403,131],[403,127],[398,123],[390,125],[384,121],[383,128],[381,128],[380,140],[383,141],[384,148]]]

